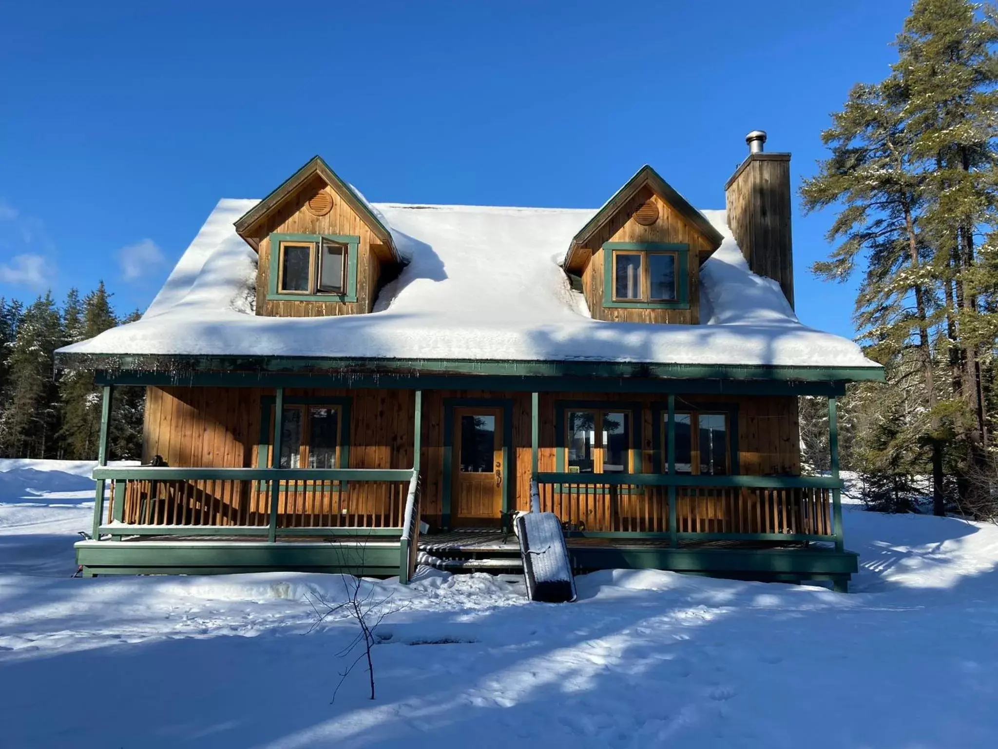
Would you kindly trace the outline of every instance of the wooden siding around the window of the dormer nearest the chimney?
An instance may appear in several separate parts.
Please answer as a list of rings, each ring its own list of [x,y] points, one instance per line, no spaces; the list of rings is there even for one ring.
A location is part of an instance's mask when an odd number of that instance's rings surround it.
[[[644,226],[635,214],[648,200],[655,201],[659,219]],[[690,246],[690,309],[642,310],[635,308],[608,308],[603,306],[604,264],[609,262],[602,250],[606,242],[671,242]],[[590,258],[582,272],[582,289],[589,304],[589,311],[596,320],[626,323],[674,323],[696,325],[700,323],[700,262],[712,248],[701,232],[675,211],[650,188],[639,190],[607,224],[593,235],[589,242]],[[680,283],[683,280],[680,279]]]

